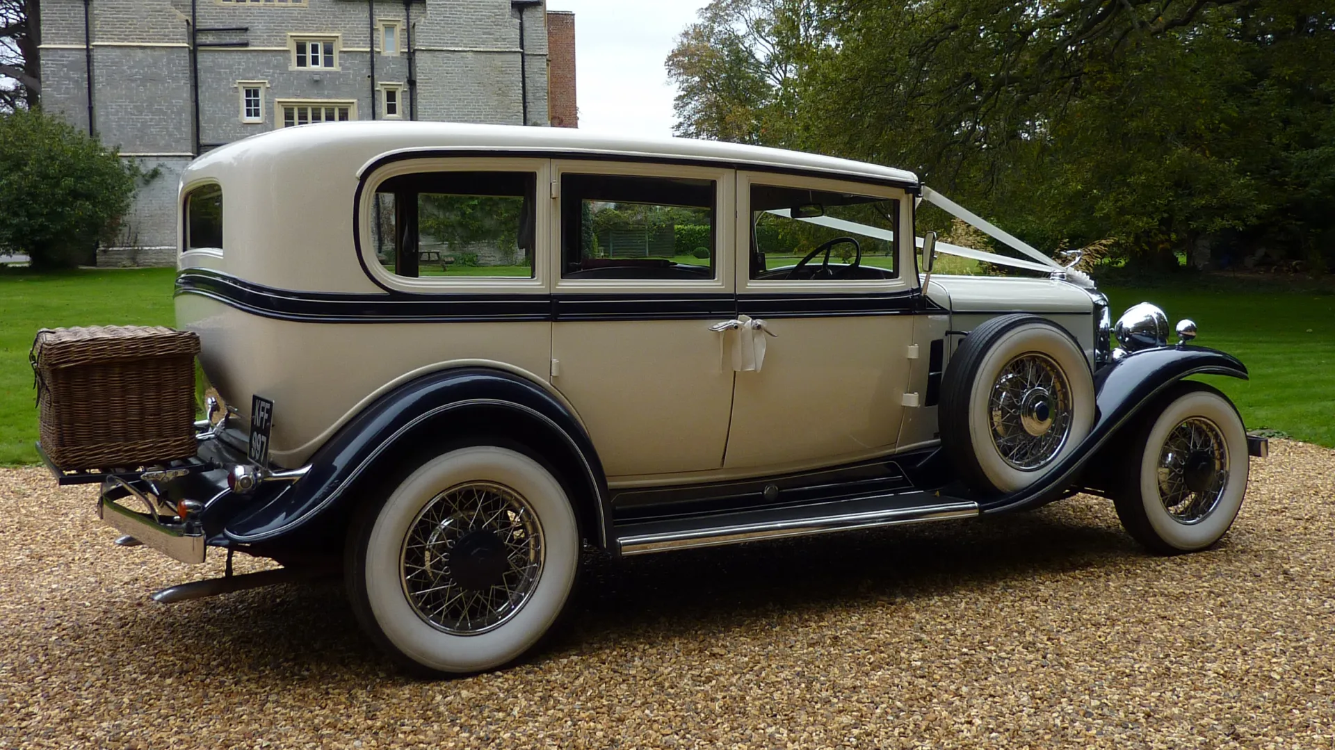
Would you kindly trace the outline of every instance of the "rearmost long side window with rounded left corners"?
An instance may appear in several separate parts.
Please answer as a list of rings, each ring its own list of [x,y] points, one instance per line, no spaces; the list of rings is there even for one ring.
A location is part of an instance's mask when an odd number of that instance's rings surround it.
[[[398,276],[533,278],[533,172],[423,172],[380,183],[371,242]]]

